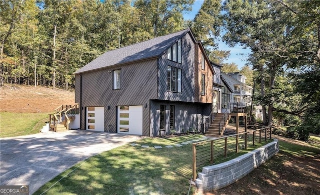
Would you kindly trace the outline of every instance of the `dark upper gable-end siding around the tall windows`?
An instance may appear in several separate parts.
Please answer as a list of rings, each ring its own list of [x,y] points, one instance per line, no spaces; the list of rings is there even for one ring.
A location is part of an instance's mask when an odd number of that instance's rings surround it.
[[[167,59],[164,52],[158,60],[158,99],[194,102],[194,43],[189,33],[181,38],[182,63]],[[167,66],[181,68],[181,93],[167,91]]]

